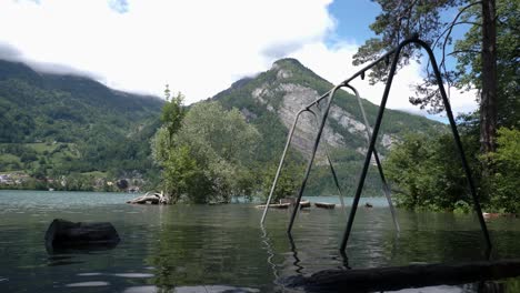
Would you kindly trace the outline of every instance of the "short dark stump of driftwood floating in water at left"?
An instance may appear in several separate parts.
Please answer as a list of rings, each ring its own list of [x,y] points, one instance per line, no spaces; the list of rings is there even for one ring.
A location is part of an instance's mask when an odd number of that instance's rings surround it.
[[[68,250],[107,250],[116,247],[119,234],[109,222],[70,222],[54,219],[46,232],[46,247],[49,253]]]

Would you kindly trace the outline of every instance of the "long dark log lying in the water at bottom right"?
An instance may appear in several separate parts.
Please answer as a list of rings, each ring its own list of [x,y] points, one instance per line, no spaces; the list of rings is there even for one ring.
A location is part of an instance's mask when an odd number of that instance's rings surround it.
[[[467,284],[520,276],[520,260],[490,262],[414,264],[358,270],[326,270],[310,276],[282,281],[306,292],[394,291],[408,287]]]

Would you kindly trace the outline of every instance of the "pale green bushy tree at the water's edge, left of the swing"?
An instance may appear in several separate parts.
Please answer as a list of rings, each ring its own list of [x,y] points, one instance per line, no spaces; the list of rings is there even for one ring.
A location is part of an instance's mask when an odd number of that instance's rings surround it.
[[[246,159],[254,153],[257,130],[233,109],[214,102],[198,103],[168,143],[161,128],[152,141],[154,161],[162,168],[163,188],[173,201],[230,201],[251,193],[252,176]],[[250,162],[250,161],[249,161]]]

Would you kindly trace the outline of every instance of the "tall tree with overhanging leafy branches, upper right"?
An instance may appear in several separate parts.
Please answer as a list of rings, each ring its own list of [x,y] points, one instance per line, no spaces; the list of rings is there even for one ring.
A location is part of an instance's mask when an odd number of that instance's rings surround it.
[[[382,12],[376,18],[376,22],[370,26],[379,38],[368,40],[360,47],[354,55],[354,64],[376,60],[383,51],[396,47],[404,38],[419,33],[420,38],[434,48],[442,50],[442,60],[440,62],[443,69],[444,79],[448,84],[468,85],[480,84],[480,141],[482,152],[494,150],[494,135],[497,129],[497,7],[496,0],[376,0],[381,6]],[[516,0],[499,0],[499,3],[513,3]],[[518,1],[517,1],[518,2]],[[480,11],[473,9],[480,6]],[[459,9],[459,13],[451,21],[444,21],[442,14],[450,9]],[[517,9],[518,11],[518,9]],[[481,32],[481,36],[474,38],[480,44],[480,50],[464,50],[461,52],[451,52],[456,54],[459,62],[461,58],[470,57],[471,60],[479,60],[478,63],[471,63],[471,70],[479,72],[474,79],[462,80],[461,71],[448,70],[446,65],[446,50],[452,43],[451,32],[456,26],[469,24]],[[468,36],[467,36],[468,37]],[[474,37],[474,36],[473,36]],[[463,53],[460,54],[459,53]],[[403,58],[399,67],[406,65],[412,59],[419,60],[421,51],[413,47],[407,47],[402,51]],[[518,54],[517,54],[518,55]],[[427,70],[429,67],[427,67]],[[463,68],[459,68],[463,69]],[[428,70],[429,71],[429,70]],[[371,82],[386,80],[386,67],[380,64],[370,73]],[[431,90],[431,85],[437,85],[431,72],[426,77],[424,83],[417,87],[417,92],[421,97],[410,98],[414,104],[422,107],[429,104],[433,111],[442,109],[438,90]]]

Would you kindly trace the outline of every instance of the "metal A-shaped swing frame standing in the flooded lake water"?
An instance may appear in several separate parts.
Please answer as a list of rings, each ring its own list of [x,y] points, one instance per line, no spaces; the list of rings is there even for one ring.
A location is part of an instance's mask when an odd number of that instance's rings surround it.
[[[433,54],[433,51],[432,51],[431,47],[428,43],[426,43],[424,41],[420,40],[418,34],[416,34],[416,36],[400,42],[398,44],[398,47],[396,47],[394,49],[388,51],[387,53],[384,53],[383,55],[381,55],[379,59],[374,60],[370,64],[366,65],[364,68],[359,70],[357,73],[354,73],[352,77],[344,80],[340,84],[336,85],[332,90],[330,90],[329,92],[327,92],[326,94],[323,94],[322,97],[317,99],[314,102],[312,102],[308,107],[300,110],[300,112],[298,112],[297,118],[294,120],[294,124],[292,125],[292,129],[291,129],[291,131],[289,133],[289,139],[288,139],[288,141],[286,143],[286,149],[283,151],[282,160],[280,160],[280,164],[279,164],[277,175],[276,175],[274,181],[273,181],[273,185],[271,188],[269,200],[270,200],[270,198],[272,195],[272,192],[273,192],[273,190],[276,188],[278,175],[280,174],[280,171],[281,171],[281,168],[282,168],[282,164],[283,164],[283,159],[284,159],[286,152],[287,152],[287,150],[289,148],[289,144],[290,144],[290,141],[291,141],[291,138],[292,138],[292,134],[293,134],[296,123],[298,121],[299,115],[303,111],[309,111],[310,107],[314,105],[319,101],[321,101],[321,100],[326,99],[327,97],[329,97],[326,111],[321,117],[321,124],[320,124],[320,128],[318,130],[318,133],[317,133],[317,137],[316,137],[316,140],[314,140],[314,145],[313,145],[311,158],[309,159],[309,163],[307,165],[306,175],[304,175],[303,181],[301,183],[300,191],[298,193],[298,199],[297,199],[297,202],[296,202],[296,206],[294,206],[294,210],[292,211],[291,220],[290,220],[290,223],[289,223],[289,226],[288,226],[288,230],[287,230],[287,232],[289,234],[291,233],[291,229],[292,229],[292,225],[293,225],[293,222],[294,222],[294,218],[296,218],[296,214],[297,214],[297,212],[299,210],[298,208],[299,208],[299,204],[300,204],[300,201],[301,201],[301,196],[302,196],[303,191],[304,191],[306,185],[307,185],[307,180],[309,178],[309,174],[310,174],[310,171],[311,171],[311,168],[312,168],[312,163],[313,163],[313,160],[314,160],[314,156],[316,156],[316,152],[318,150],[318,145],[319,145],[319,142],[320,142],[320,139],[321,139],[321,134],[323,132],[323,128],[324,128],[324,124],[327,122],[327,118],[328,118],[329,110],[330,110],[330,107],[331,107],[331,103],[332,103],[333,95],[334,95],[336,91],[338,91],[340,88],[343,88],[343,87],[351,88],[351,85],[349,83],[352,80],[354,80],[358,77],[363,78],[367,70],[373,68],[374,65],[377,65],[380,62],[387,61],[387,63],[388,63],[390,55],[393,54],[393,60],[392,60],[392,63],[391,63],[390,71],[388,73],[388,79],[387,79],[383,95],[382,95],[382,99],[381,99],[381,104],[379,107],[379,112],[378,112],[378,115],[377,115],[376,124],[373,127],[372,135],[369,135],[370,137],[370,143],[369,143],[369,148],[367,150],[367,154],[366,154],[366,158],[364,158],[363,169],[362,169],[361,174],[359,176],[358,188],[356,190],[354,199],[352,201],[352,208],[351,208],[349,219],[348,219],[348,222],[347,222],[347,228],[344,230],[343,239],[342,239],[341,245],[340,245],[340,251],[343,252],[346,250],[347,242],[348,242],[350,233],[352,231],[352,224],[353,224],[353,220],[356,218],[356,211],[358,209],[358,204],[359,204],[359,200],[360,200],[361,192],[362,192],[362,189],[363,189],[364,180],[367,178],[367,172],[368,172],[368,168],[369,168],[369,164],[370,164],[370,161],[371,161],[371,156],[372,156],[372,153],[376,152],[376,142],[377,142],[377,139],[378,139],[379,129],[381,127],[382,118],[383,118],[384,110],[386,110],[386,107],[387,107],[388,95],[390,93],[390,88],[392,85],[393,75],[394,75],[394,73],[397,71],[397,64],[398,64],[398,61],[399,61],[399,57],[401,54],[402,48],[404,48],[406,46],[410,46],[410,44],[416,44],[416,46],[422,48],[428,53],[428,58],[429,58],[429,60],[431,62],[431,65],[432,65],[432,69],[433,69],[434,75],[436,75],[437,84],[439,87],[439,92],[440,92],[440,95],[441,95],[441,99],[442,99],[442,102],[443,102],[443,105],[444,105],[444,110],[446,110],[448,120],[450,122],[451,131],[452,131],[452,134],[453,134],[453,140],[454,140],[454,143],[457,145],[457,150],[458,150],[459,155],[460,155],[460,160],[461,160],[461,163],[462,163],[462,169],[464,170],[464,173],[466,173],[466,176],[467,176],[467,180],[468,180],[468,185],[469,185],[470,193],[471,193],[471,196],[472,196],[472,200],[473,200],[473,209],[477,212],[477,216],[479,219],[480,228],[482,230],[482,234],[483,234],[486,245],[487,245],[487,252],[488,252],[488,254],[491,252],[492,244],[491,244],[491,240],[490,240],[490,236],[489,236],[488,228],[486,225],[486,221],[484,221],[483,215],[482,215],[482,209],[480,206],[480,201],[479,201],[479,198],[477,195],[477,190],[476,190],[476,186],[474,186],[474,183],[473,183],[471,171],[469,169],[469,164],[468,164],[468,161],[466,159],[464,150],[463,150],[462,143],[460,141],[459,131],[457,130],[457,124],[456,124],[456,121],[454,121],[454,118],[453,118],[453,113],[451,111],[451,105],[450,105],[450,102],[448,100],[448,95],[447,95],[446,90],[444,90],[444,84],[443,84],[443,81],[442,81],[442,77],[440,74],[439,67],[437,64],[436,57]],[[382,172],[380,172],[380,173],[382,174]],[[263,220],[266,218],[266,213],[267,213],[268,208],[269,208],[269,201],[268,201],[268,204],[266,205],[266,210],[264,210],[263,215],[262,215],[262,220],[261,220],[262,223],[263,223]]]

